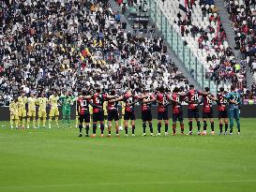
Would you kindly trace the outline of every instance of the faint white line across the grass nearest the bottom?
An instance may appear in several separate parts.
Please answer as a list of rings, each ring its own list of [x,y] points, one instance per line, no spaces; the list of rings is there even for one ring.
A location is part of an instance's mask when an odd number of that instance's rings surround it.
[[[177,181],[177,182],[126,182],[126,183],[93,183],[93,184],[67,184],[67,185],[18,185],[18,186],[0,186],[0,189],[4,188],[42,188],[42,187],[74,187],[74,186],[106,186],[106,185],[180,185],[180,184],[247,184],[252,183],[256,185],[256,180],[245,181]]]

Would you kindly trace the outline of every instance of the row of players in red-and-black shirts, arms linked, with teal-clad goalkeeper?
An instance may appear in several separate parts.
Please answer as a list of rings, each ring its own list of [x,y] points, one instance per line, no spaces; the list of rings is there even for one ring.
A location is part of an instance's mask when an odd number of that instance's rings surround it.
[[[145,129],[148,124],[151,136],[153,136],[152,126],[152,114],[151,114],[151,103],[158,103],[158,133],[161,134],[162,121],[165,124],[165,135],[168,135],[169,129],[169,117],[168,117],[168,106],[173,106],[173,135],[176,134],[177,121],[180,124],[181,134],[184,134],[184,122],[183,122],[183,111],[182,102],[188,103],[188,135],[192,135],[192,120],[196,121],[198,128],[198,135],[206,135],[207,119],[211,125],[211,134],[214,135],[214,120],[213,120],[213,101],[218,103],[218,119],[219,119],[219,134],[223,133],[223,125],[225,126],[224,134],[228,131],[228,113],[230,114],[230,134],[233,134],[233,119],[235,119],[238,128],[238,134],[240,134],[240,122],[239,122],[239,104],[241,97],[237,93],[234,87],[231,87],[231,93],[227,94],[223,88],[219,89],[218,96],[213,96],[209,88],[206,87],[203,92],[195,90],[194,85],[189,85],[189,91],[183,93],[178,87],[173,89],[173,93],[165,92],[164,87],[158,89],[156,95],[150,94],[147,90],[143,91],[143,95],[136,96],[130,91],[126,92],[123,96],[116,96],[115,92],[112,91],[110,95],[101,93],[100,89],[96,90],[96,93],[91,95],[86,91],[83,91],[83,95],[77,100],[77,111],[79,113],[79,137],[83,136],[83,123],[85,123],[85,137],[89,136],[90,128],[90,106],[93,107],[93,134],[91,137],[96,137],[97,123],[99,122],[100,137],[104,137],[104,111],[103,104],[107,101],[108,111],[108,136],[111,136],[112,122],[115,122],[116,136],[119,136],[118,126],[118,101],[125,103],[124,112],[124,127],[125,134],[128,136],[128,121],[131,121],[131,135],[135,136],[135,113],[134,105],[138,102],[142,103],[142,119],[143,119],[143,136],[146,135]],[[199,119],[199,105],[203,103],[203,132],[201,132],[201,121]],[[229,104],[229,106],[228,106]]]

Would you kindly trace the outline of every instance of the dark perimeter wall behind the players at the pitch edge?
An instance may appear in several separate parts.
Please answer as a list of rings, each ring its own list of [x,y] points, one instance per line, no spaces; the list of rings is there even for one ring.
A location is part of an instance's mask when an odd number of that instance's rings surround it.
[[[152,115],[154,119],[157,119],[157,110],[158,106],[152,106]],[[202,114],[203,106],[200,106],[200,111]],[[59,109],[60,111],[60,119],[62,119],[62,114],[61,114],[61,108]],[[121,113],[121,109],[119,109]],[[49,113],[49,111],[48,111]],[[188,114],[188,106],[183,106],[183,113],[184,117],[187,117]],[[8,107],[1,107],[0,108],[0,121],[8,121],[9,120],[9,110]],[[75,114],[76,114],[76,108],[75,106],[72,107],[71,109],[71,119],[75,119]],[[141,106],[135,106],[135,114],[137,119],[142,118],[142,111],[141,111]],[[169,116],[172,116],[172,110],[171,107],[169,107]],[[249,117],[256,117],[256,105],[243,105],[241,107],[241,117],[249,118]],[[214,117],[218,117],[218,111],[217,111],[217,106],[214,106]]]

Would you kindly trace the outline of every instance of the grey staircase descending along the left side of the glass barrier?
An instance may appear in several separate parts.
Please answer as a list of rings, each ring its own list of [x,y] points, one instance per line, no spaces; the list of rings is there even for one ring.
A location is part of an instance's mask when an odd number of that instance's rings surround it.
[[[116,2],[114,0],[109,0],[109,3],[111,4],[111,7],[112,7],[114,12],[117,12],[117,11],[121,12],[121,8],[117,6],[117,4],[116,4]],[[127,32],[128,31],[130,31],[130,32],[133,31],[133,28],[131,27],[130,22],[128,22],[128,18],[127,17],[123,17],[122,16],[121,17],[121,22],[127,22],[127,29],[126,29]],[[150,24],[152,24],[152,22],[150,22],[149,25]],[[158,35],[161,36],[160,31],[156,30],[155,35],[156,36],[158,36]],[[168,44],[166,43],[166,45],[168,45]],[[191,77],[188,69],[184,66],[182,61],[176,56],[176,54],[172,51],[172,49],[169,46],[168,46],[167,53],[172,58],[172,61],[174,62],[175,66],[178,67],[178,70],[181,73],[183,73],[183,75],[188,79],[189,83],[194,84],[197,89],[202,90],[202,86],[197,81],[195,81],[195,79],[193,79]]]

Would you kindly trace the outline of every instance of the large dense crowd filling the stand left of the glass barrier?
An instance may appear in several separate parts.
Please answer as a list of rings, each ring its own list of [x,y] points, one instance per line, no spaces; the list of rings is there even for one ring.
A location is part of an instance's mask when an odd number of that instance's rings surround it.
[[[127,32],[108,0],[0,1],[0,95],[187,87],[161,37]]]

